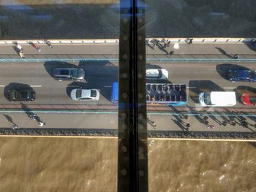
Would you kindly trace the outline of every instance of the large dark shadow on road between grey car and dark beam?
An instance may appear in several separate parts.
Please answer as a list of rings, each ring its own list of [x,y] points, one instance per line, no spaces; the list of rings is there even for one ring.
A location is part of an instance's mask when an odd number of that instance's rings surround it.
[[[110,101],[112,83],[118,82],[118,66],[110,61],[80,61],[78,66],[86,72],[83,88],[95,88]]]

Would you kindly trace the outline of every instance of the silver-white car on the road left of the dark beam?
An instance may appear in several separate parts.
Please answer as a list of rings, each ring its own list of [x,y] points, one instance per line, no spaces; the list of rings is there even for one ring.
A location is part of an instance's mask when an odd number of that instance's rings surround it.
[[[99,91],[97,89],[73,89],[70,97],[75,101],[99,101]]]

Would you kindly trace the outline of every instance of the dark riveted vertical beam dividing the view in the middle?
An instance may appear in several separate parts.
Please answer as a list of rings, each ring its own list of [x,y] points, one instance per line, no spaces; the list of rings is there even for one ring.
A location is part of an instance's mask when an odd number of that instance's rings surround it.
[[[148,191],[145,40],[145,7],[121,0],[118,191]]]

